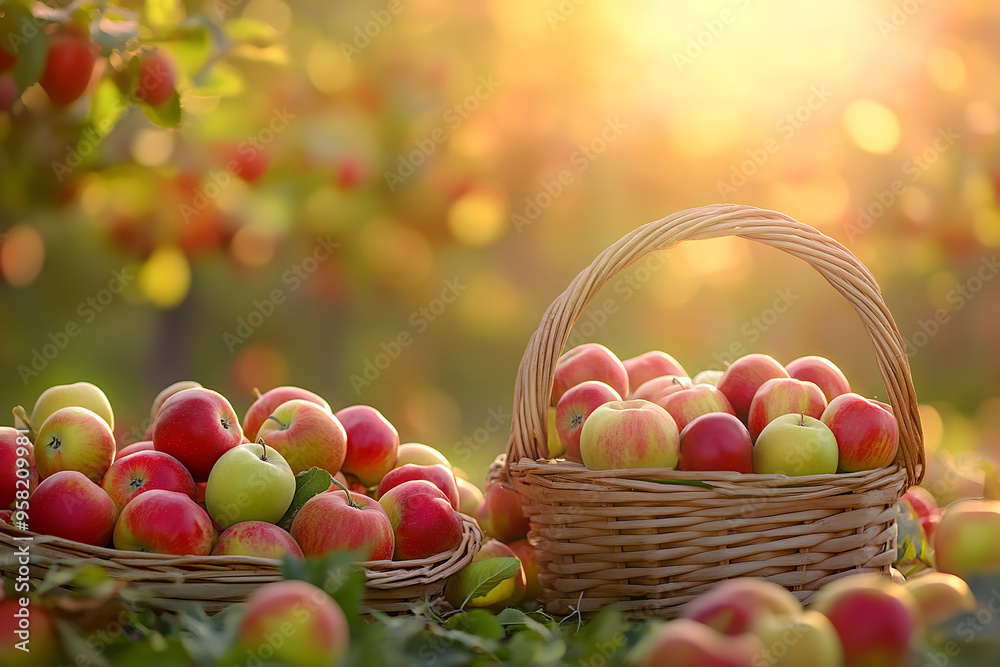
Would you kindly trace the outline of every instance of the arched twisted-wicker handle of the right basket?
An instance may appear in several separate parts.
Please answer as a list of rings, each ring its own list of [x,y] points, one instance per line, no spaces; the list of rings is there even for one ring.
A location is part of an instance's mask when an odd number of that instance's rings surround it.
[[[838,241],[787,215],[740,204],[688,209],[632,230],[581,271],[542,315],[521,358],[507,466],[521,458],[548,458],[547,409],[556,363],[587,304],[617,273],[646,255],[681,241],[737,236],[794,255],[812,266],[854,306],[875,347],[889,404],[899,422],[897,461],[907,484],[924,473],[923,433],[906,346],[874,276]]]

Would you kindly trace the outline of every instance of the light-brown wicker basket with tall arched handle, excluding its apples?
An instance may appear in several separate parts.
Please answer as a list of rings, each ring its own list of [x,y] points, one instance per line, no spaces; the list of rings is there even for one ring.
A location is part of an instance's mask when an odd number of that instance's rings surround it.
[[[590,300],[650,253],[721,236],[757,241],[805,260],[854,306],[899,421],[900,451],[890,467],[786,477],[591,471],[549,458],[546,411],[553,373]],[[808,602],[838,576],[887,572],[896,554],[893,505],[921,478],[923,457],[905,347],[872,274],[840,243],[788,216],[715,205],[626,234],[552,302],[518,369],[506,468],[492,474],[521,494],[548,611],[617,605],[632,617],[671,618],[714,582],[732,577],[764,577]],[[704,485],[676,483],[692,479]]]

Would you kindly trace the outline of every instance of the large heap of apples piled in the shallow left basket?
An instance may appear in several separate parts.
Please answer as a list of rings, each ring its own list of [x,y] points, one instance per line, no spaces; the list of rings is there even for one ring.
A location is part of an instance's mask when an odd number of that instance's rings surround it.
[[[120,450],[91,383],[50,387],[20,414],[37,430],[0,428],[0,518],[93,546],[420,559],[458,548],[459,513],[483,498],[436,449],[400,444],[375,408],[334,412],[299,387],[258,394],[241,422],[218,392],[175,383],[153,401],[147,439]],[[297,475],[313,468],[332,483],[295,511]]]

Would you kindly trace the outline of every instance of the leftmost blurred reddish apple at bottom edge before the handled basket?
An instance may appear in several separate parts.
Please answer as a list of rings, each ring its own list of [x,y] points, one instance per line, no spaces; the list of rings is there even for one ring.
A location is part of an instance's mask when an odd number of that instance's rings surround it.
[[[723,635],[678,618],[654,626],[636,646],[637,667],[759,667],[764,650],[756,635]]]

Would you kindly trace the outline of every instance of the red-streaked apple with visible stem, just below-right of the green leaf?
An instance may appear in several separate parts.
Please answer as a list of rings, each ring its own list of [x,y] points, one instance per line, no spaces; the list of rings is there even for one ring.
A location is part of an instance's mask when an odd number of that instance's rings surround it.
[[[302,505],[289,529],[306,558],[357,552],[361,560],[389,560],[395,548],[385,508],[346,488],[313,496]]]

